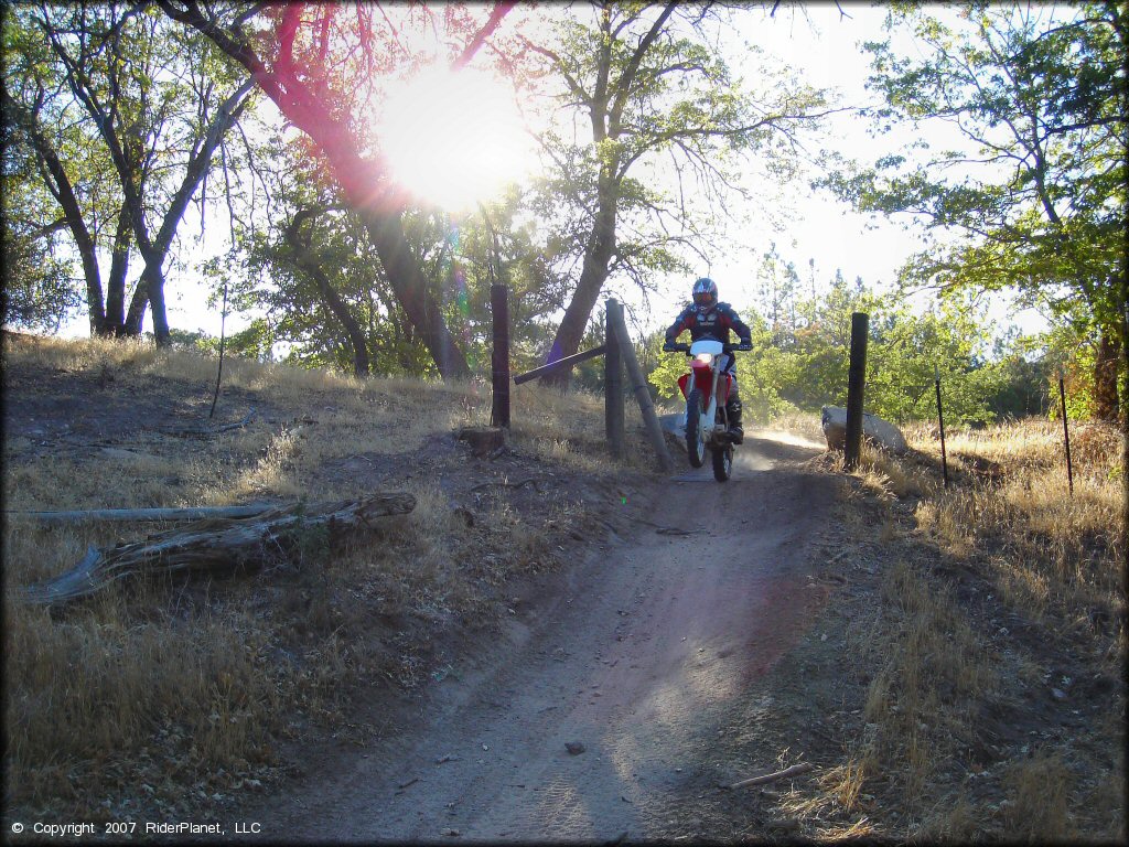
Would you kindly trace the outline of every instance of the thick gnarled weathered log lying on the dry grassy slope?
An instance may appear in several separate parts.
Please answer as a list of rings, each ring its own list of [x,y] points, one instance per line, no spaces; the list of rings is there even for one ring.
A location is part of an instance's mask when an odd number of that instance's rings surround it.
[[[248,518],[201,521],[145,541],[103,550],[90,548],[67,573],[27,586],[20,594],[35,605],[59,606],[95,594],[119,579],[142,575],[254,570],[290,561],[312,543],[340,543],[351,533],[375,527],[378,517],[404,515],[413,508],[412,495],[394,492],[359,501],[296,504]]]

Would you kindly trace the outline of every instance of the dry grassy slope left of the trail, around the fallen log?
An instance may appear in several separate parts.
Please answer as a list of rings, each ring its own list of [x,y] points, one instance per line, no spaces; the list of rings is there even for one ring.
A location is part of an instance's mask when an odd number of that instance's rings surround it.
[[[143,343],[7,335],[3,359],[6,379],[32,375],[21,391],[35,400],[38,375],[93,386],[91,412],[112,402],[126,409],[111,424],[133,424],[130,398],[155,393],[158,408],[189,404],[196,417],[184,424],[199,425],[216,368],[215,359]],[[227,420],[248,405],[256,416],[209,439],[150,426],[114,440],[107,425],[112,446],[104,436],[6,433],[6,507],[348,498],[370,488],[322,469],[360,456],[409,471],[401,487],[415,495],[414,512],[390,519],[377,543],[330,550],[312,534],[299,559],[275,573],[215,586],[116,586],[61,618],[21,605],[14,588],[67,570],[90,545],[163,527],[7,521],[9,809],[89,820],[140,809],[183,814],[255,789],[279,774],[280,736],[348,725],[351,691],[411,688],[437,666],[449,671],[443,632],[492,626],[500,586],[553,567],[559,539],[586,517],[563,497],[527,515],[499,488],[471,525],[445,494],[441,472],[411,472],[435,439],[449,443],[453,430],[489,421],[490,392],[481,384],[362,382],[229,360],[221,398]],[[607,457],[595,398],[523,386],[513,419],[510,444],[562,478],[611,479],[653,464],[641,451],[622,463]],[[35,422],[50,429],[50,421]],[[371,731],[349,732],[364,741]]]

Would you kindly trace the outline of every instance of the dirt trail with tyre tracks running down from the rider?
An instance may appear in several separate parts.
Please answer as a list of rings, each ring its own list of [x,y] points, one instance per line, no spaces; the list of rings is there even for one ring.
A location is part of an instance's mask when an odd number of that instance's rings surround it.
[[[750,438],[728,483],[676,473],[632,538],[563,575],[479,670],[432,686],[410,731],[257,812],[264,837],[668,833],[719,727],[809,621],[809,544],[833,496],[799,466],[815,452]]]

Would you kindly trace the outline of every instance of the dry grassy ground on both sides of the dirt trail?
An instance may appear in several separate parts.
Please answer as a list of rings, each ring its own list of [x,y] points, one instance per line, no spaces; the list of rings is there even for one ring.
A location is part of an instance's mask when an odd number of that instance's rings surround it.
[[[612,462],[597,398],[522,386],[507,448],[474,456],[455,434],[488,421],[488,386],[237,360],[211,425],[246,424],[201,436],[215,367],[6,335],[6,508],[388,490],[418,505],[344,549],[310,533],[263,573],[115,585],[55,614],[18,586],[167,526],[9,516],[5,800],[28,819],[209,815],[281,785],[315,745],[394,733],[395,705],[460,679],[501,621],[535,612],[550,571],[655,517],[641,428]],[[776,426],[820,435],[807,417]],[[773,672],[773,719],[816,768],[759,802],[828,839],[1123,840],[1122,434],[1073,430],[1073,497],[1058,425],[951,434],[947,489],[937,434],[907,436],[908,456],[867,449],[852,475],[835,454],[808,463],[846,483],[842,538],[813,566],[832,587]],[[820,724],[796,723],[813,704]],[[739,823],[749,798],[724,796]]]

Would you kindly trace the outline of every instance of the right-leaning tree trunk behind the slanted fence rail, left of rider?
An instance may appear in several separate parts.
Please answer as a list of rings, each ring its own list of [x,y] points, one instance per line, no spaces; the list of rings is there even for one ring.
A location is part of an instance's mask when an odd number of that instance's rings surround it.
[[[611,176],[611,172],[601,174],[601,185],[597,192],[598,209],[593,225],[592,234],[584,251],[584,268],[580,271],[580,281],[572,292],[572,300],[564,311],[564,318],[557,329],[557,338],[549,351],[546,363],[563,359],[572,356],[580,347],[584,339],[585,328],[592,311],[596,306],[599,292],[607,280],[609,268],[612,263],[612,255],[615,253],[615,216],[619,200],[619,184]],[[542,377],[543,385],[553,385],[563,388],[568,385],[569,375],[572,368],[562,367],[560,370]]]

